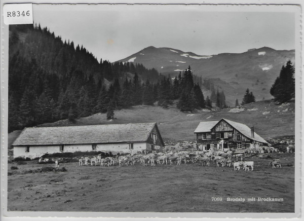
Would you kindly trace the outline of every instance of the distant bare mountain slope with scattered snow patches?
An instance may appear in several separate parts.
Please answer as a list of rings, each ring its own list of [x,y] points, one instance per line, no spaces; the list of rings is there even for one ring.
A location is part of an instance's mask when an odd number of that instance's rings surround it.
[[[242,100],[247,88],[253,92],[256,100],[271,99],[270,88],[279,76],[282,65],[288,60],[294,63],[294,53],[294,50],[277,51],[263,47],[239,54],[197,55],[150,46],[119,61],[142,63],[146,68],[154,67],[172,78],[190,65],[195,75],[212,79],[215,88],[224,90],[227,103],[234,105],[236,98]],[[210,95],[208,93],[205,90],[205,95]]]

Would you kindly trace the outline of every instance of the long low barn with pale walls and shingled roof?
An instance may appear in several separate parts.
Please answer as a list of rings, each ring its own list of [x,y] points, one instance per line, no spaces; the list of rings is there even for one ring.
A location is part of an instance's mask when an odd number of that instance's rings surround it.
[[[116,154],[163,151],[157,123],[107,124],[25,128],[14,141],[14,158],[41,157],[64,152],[104,151]]]

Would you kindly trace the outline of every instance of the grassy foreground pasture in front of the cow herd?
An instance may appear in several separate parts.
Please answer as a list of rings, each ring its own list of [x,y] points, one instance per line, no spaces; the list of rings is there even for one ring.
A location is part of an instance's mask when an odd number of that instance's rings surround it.
[[[253,171],[196,164],[100,167],[60,164],[67,172],[22,174],[50,165],[8,164],[9,211],[294,212],[294,154],[252,158]],[[246,159],[249,160],[249,159]],[[288,164],[288,165],[287,165]],[[18,170],[11,170],[17,166]],[[54,166],[54,165],[51,165]],[[212,201],[212,197],[222,201]],[[254,197],[255,202],[248,202]],[[257,198],[283,198],[261,202]],[[245,202],[227,202],[244,198]],[[219,199],[220,200],[220,199]]]

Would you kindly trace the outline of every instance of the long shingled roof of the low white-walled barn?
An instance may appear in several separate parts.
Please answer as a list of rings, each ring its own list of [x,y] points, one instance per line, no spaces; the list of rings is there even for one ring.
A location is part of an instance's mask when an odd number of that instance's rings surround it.
[[[146,141],[156,123],[25,128],[13,143],[56,145]]]

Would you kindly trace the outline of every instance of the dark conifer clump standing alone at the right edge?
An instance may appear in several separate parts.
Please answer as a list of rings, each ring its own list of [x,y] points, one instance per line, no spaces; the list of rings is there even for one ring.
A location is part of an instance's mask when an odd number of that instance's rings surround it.
[[[282,66],[279,77],[270,89],[270,94],[280,103],[295,97],[294,66],[291,61]]]

